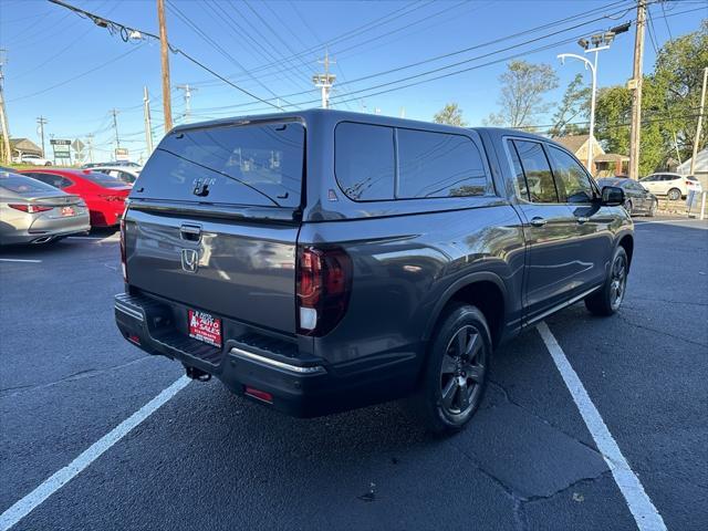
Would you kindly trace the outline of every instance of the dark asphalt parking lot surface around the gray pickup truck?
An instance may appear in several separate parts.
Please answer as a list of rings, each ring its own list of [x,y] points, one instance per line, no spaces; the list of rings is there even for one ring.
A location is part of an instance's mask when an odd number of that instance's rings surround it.
[[[496,353],[457,436],[398,403],[293,419],[215,381],[181,388],[180,365],[125,342],[118,270],[111,233],[0,251],[0,529],[28,503],[12,529],[659,529],[537,330]],[[666,527],[708,529],[708,222],[638,219],[621,313],[545,323]]]

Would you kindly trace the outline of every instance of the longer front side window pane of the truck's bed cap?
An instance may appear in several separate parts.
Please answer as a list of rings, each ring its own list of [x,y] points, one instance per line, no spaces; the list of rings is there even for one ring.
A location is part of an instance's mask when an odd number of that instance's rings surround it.
[[[397,129],[396,198],[483,196],[490,183],[479,149],[464,135]]]

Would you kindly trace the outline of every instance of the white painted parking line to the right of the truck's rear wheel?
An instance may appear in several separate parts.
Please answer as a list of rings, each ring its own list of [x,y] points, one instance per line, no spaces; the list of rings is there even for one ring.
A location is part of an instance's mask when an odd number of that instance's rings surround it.
[[[629,468],[627,460],[622,455],[617,442],[610,433],[610,429],[607,429],[600,412],[593,404],[593,400],[591,400],[590,395],[587,395],[585,387],[568,361],[568,357],[565,357],[563,348],[561,348],[561,345],[559,345],[544,322],[538,324],[537,329],[541,334],[543,343],[545,343],[545,347],[551,353],[551,357],[553,357],[553,362],[561,373],[568,391],[571,392],[571,396],[590,434],[595,440],[597,449],[610,467],[612,476],[615,478],[615,482],[637,523],[637,528],[639,531],[665,531],[666,524],[664,523],[664,519],[645,492],[639,478],[637,478]]]

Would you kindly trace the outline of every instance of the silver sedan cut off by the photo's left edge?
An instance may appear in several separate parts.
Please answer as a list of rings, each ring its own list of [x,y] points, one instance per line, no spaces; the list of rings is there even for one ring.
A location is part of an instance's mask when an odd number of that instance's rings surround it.
[[[81,197],[0,171],[0,244],[49,243],[90,229],[88,209]]]

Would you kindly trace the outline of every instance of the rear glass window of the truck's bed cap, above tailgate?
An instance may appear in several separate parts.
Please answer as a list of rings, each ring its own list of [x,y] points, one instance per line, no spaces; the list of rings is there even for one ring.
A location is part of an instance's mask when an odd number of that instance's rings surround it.
[[[299,123],[177,131],[149,158],[132,197],[294,208],[304,140]]]

